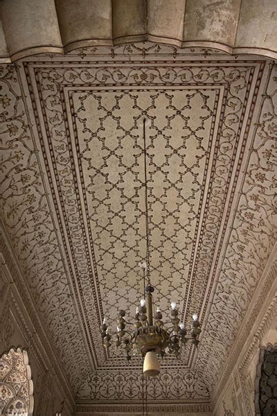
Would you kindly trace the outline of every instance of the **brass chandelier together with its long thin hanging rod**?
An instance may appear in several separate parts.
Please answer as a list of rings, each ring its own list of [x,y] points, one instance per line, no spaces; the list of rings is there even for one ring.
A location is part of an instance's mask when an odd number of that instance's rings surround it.
[[[157,376],[160,372],[159,358],[169,354],[179,357],[181,349],[188,342],[197,347],[199,334],[201,333],[200,322],[197,313],[193,314],[193,322],[190,329],[181,322],[176,302],[171,302],[170,321],[163,322],[161,309],[154,310],[153,295],[154,287],[150,282],[149,275],[149,227],[148,227],[148,178],[147,178],[147,153],[145,139],[145,119],[143,120],[143,154],[145,175],[145,225],[146,225],[146,261],[141,261],[139,267],[143,270],[144,297],[136,308],[134,322],[127,322],[126,312],[118,311],[116,331],[111,331],[104,318],[101,327],[102,343],[108,351],[112,343],[116,349],[122,347],[127,354],[127,361],[132,356],[143,358],[143,374],[145,376]],[[145,285],[145,281],[148,283]]]

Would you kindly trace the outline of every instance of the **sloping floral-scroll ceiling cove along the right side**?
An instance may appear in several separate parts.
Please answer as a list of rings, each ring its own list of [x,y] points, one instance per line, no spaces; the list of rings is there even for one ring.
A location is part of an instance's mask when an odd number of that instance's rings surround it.
[[[220,348],[220,345],[223,345],[226,339],[234,340],[235,336],[230,327],[230,317],[238,324],[242,321],[276,242],[276,81],[277,66],[271,65],[244,182],[239,191],[240,199],[231,227],[229,245],[222,262],[217,291],[206,326],[206,336],[199,350],[199,371],[207,366],[210,369],[222,369],[229,348]],[[222,329],[220,332],[217,331],[218,324]],[[209,357],[206,356],[208,351]],[[220,371],[217,374],[220,374]],[[211,385],[215,385],[216,378],[208,379]]]

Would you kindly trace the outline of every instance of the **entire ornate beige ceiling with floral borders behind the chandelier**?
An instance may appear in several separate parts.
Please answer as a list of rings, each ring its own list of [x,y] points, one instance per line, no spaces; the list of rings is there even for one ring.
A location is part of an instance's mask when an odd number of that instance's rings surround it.
[[[155,302],[202,322],[149,399],[209,403],[271,252],[276,68],[214,52],[136,44],[1,67],[1,216],[80,404],[141,398],[141,361],[107,355],[99,327],[141,298],[143,119]]]

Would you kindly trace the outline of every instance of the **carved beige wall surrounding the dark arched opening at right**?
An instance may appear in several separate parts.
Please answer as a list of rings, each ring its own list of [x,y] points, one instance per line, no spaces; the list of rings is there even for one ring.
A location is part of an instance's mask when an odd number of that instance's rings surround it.
[[[241,346],[240,342],[237,342],[233,349],[234,355],[230,361],[233,362],[231,376],[225,384],[222,378],[215,390],[213,397],[215,415],[224,415],[224,403],[226,405],[232,402],[235,410],[235,401],[238,404],[238,415],[258,414],[261,350],[265,351],[268,345],[272,345],[277,336],[276,252],[277,245],[262,275],[254,297],[255,302],[252,303],[242,324],[240,334],[244,333],[245,338],[242,338]],[[234,388],[230,389],[230,385]]]

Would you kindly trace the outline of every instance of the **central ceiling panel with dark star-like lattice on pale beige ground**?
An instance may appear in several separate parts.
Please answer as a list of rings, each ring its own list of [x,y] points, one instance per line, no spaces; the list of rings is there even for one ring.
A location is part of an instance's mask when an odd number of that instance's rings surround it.
[[[137,262],[146,252],[144,117],[155,301],[163,310],[170,300],[183,306],[180,288],[185,291],[188,284],[218,95],[218,89],[73,94],[94,253],[98,275],[105,276],[100,280],[103,313],[111,318],[120,307],[134,315],[142,291]],[[201,109],[197,115],[195,107]]]

